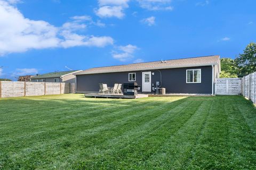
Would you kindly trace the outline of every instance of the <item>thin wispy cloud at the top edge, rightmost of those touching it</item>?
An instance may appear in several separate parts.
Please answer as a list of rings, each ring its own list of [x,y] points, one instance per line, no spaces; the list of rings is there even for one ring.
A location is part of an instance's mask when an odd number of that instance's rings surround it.
[[[171,0],[137,0],[142,8],[150,11],[167,10],[172,11]]]

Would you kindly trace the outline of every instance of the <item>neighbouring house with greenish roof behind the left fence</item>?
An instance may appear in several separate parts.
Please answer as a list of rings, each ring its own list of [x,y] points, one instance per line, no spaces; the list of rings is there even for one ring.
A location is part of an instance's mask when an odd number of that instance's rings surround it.
[[[32,82],[68,82],[68,83],[75,83],[76,77],[74,73],[78,73],[82,70],[75,70],[75,71],[61,71],[61,72],[52,72],[37,75],[31,78]]]

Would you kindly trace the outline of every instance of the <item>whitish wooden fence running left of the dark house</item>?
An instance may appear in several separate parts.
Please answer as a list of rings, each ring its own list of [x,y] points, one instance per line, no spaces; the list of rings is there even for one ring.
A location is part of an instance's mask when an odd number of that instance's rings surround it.
[[[75,92],[74,84],[0,81],[0,98],[69,94]]]

